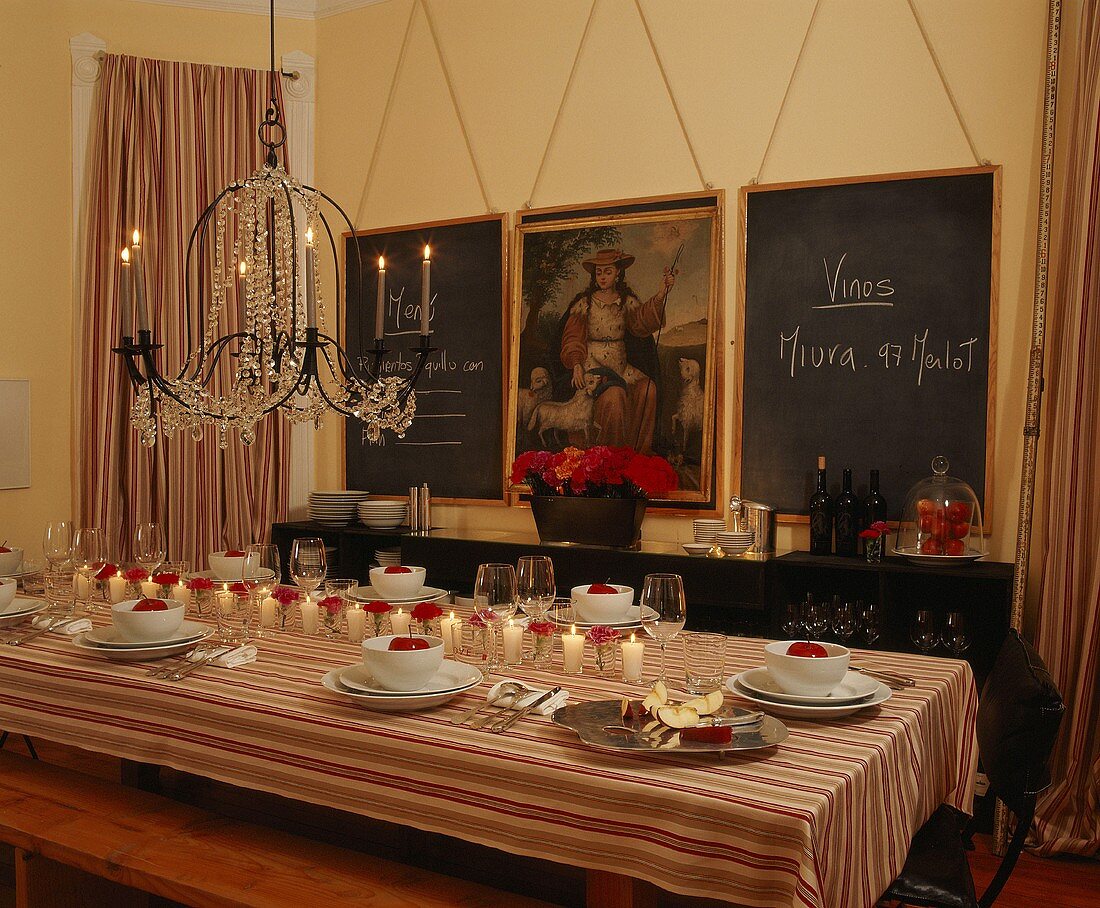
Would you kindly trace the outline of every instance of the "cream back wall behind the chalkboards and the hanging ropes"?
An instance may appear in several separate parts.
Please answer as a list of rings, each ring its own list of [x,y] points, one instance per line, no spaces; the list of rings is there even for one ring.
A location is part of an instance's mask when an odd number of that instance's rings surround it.
[[[485,210],[422,12],[370,192],[365,180],[413,0],[317,25],[318,185],[371,228]],[[430,0],[491,205],[530,197],[588,0]],[[727,190],[725,313],[734,324],[737,188],[757,175],[812,0],[642,0],[705,178]],[[917,0],[982,157],[1004,165],[992,555],[1011,560],[1026,389],[1045,67],[1045,0]],[[905,0],[822,0],[762,182],[974,164]],[[535,206],[698,189],[632,0],[598,0]],[[441,314],[446,318],[447,314]],[[728,348],[727,348],[728,349]],[[726,385],[733,384],[727,358]],[[732,425],[726,402],[726,426]],[[723,457],[728,462],[726,433]],[[317,482],[341,482],[342,433]],[[430,477],[426,477],[430,482]],[[901,495],[904,490],[892,490]],[[448,526],[531,528],[528,511],[439,508]],[[647,538],[691,524],[650,516]],[[804,547],[802,529],[780,545]]]

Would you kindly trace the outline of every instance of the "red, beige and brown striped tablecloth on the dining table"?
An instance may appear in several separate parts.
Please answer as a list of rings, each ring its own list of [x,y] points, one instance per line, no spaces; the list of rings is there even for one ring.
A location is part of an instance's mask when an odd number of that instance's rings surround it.
[[[762,643],[730,638],[727,670],[761,664]],[[953,659],[860,655],[920,683],[847,719],[783,720],[784,743],[719,758],[596,751],[549,718],[503,735],[452,725],[486,686],[373,713],[319,683],[356,647],[258,645],[252,665],[177,683],[61,636],[3,647],[0,729],[746,906],[873,906],[932,811],[971,806],[977,696]],[[647,647],[647,670],[657,656]],[[673,643],[670,666],[680,658]],[[565,683],[574,702],[640,696],[588,670],[515,674]]]

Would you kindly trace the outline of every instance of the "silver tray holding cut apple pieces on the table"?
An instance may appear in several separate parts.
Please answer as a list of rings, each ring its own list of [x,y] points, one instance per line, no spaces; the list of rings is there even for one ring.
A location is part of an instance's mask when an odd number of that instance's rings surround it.
[[[675,729],[659,725],[649,732],[644,731],[652,722],[650,719],[635,719],[624,725],[620,713],[620,700],[593,700],[590,703],[574,703],[561,707],[553,713],[558,725],[572,729],[581,741],[593,747],[606,751],[647,751],[667,754],[683,753],[722,753],[726,751],[756,751],[760,747],[771,747],[787,740],[787,725],[771,715],[765,715],[759,724],[734,728],[733,740],[728,744],[714,744],[707,741],[675,742]],[[640,701],[636,701],[640,707]],[[724,705],[716,713],[722,719],[736,719],[749,715],[749,710],[730,704]],[[608,731],[608,729],[629,729],[628,731]]]

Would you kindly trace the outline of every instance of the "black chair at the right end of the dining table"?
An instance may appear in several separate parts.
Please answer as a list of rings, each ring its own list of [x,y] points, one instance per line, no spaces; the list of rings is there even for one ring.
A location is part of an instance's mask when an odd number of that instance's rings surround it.
[[[1016,818],[1001,866],[978,898],[966,857],[969,818],[943,805],[917,830],[905,866],[883,899],[932,908],[986,908],[993,904],[1023,851],[1035,798],[1050,784],[1047,764],[1065,711],[1062,694],[1038,654],[1018,632],[1010,631],[978,703],[978,753],[989,790]]]

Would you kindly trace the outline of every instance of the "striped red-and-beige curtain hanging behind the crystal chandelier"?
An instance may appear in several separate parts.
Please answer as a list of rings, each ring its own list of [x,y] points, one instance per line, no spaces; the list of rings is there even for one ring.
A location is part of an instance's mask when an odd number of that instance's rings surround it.
[[[253,69],[116,55],[103,63],[85,180],[73,488],[81,524],[103,527],[112,558],[129,559],[138,523],[160,521],[169,559],[198,570],[207,553],[261,541],[286,518],[285,419],[264,419],[251,447],[234,433],[221,450],[208,430],[199,441],[176,435],[144,448],[111,352],[121,336],[119,256],[136,227],[153,338],[164,344],[158,365],[172,375],[180,368],[188,237],[222,187],[262,165],[256,127],[268,95],[268,74]],[[233,319],[223,314],[222,330],[234,330]]]

